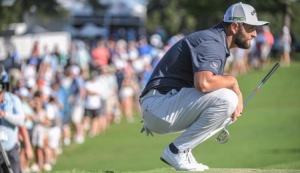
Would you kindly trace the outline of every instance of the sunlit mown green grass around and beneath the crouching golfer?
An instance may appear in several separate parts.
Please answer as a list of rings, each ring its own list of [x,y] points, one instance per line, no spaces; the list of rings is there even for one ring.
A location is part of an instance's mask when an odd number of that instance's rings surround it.
[[[270,68],[238,77],[244,99]],[[64,148],[54,172],[174,172],[159,157],[179,134],[146,137],[140,133],[138,115],[136,119]],[[218,144],[213,136],[193,150],[199,162],[212,168],[205,172],[300,172],[300,62],[279,67],[228,130],[228,143]]]

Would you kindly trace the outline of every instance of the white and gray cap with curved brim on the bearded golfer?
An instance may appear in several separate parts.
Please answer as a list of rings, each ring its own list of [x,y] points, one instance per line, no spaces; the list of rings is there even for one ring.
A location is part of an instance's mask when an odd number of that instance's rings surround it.
[[[230,23],[246,23],[253,26],[269,24],[269,22],[266,21],[258,21],[255,9],[251,5],[243,4],[241,2],[233,4],[227,9],[223,21]]]

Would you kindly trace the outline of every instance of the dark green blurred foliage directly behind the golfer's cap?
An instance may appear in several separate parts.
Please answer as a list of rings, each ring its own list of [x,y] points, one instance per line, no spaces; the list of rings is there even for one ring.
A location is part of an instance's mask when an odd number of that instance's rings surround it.
[[[151,32],[157,26],[163,26],[170,35],[182,29],[192,32],[210,28],[222,21],[227,8],[237,0],[150,0],[148,5],[147,29]],[[270,21],[271,31],[282,34],[286,0],[245,0],[244,3],[255,7],[259,20]],[[300,1],[291,1],[291,31],[300,38]],[[179,21],[181,20],[181,22]],[[189,22],[187,22],[189,21]],[[184,23],[184,24],[183,24]]]

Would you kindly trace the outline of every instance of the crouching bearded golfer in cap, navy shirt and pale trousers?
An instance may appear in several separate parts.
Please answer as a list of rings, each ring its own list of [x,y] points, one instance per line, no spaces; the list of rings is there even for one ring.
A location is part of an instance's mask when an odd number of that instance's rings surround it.
[[[224,75],[231,48],[249,49],[259,21],[248,4],[231,5],[223,21],[175,43],[155,67],[140,96],[147,135],[182,132],[163,151],[161,160],[176,170],[204,171],[192,149],[242,115],[237,79]],[[202,158],[205,156],[202,156]]]

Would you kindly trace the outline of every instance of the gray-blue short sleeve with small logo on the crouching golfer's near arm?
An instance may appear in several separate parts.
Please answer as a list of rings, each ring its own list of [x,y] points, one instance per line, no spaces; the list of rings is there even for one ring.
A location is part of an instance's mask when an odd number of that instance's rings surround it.
[[[222,62],[225,58],[224,46],[216,40],[204,41],[192,51],[193,71],[211,71],[221,74]]]

